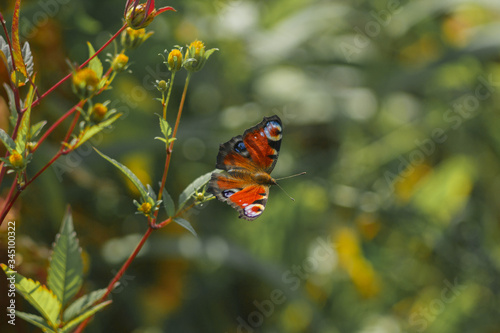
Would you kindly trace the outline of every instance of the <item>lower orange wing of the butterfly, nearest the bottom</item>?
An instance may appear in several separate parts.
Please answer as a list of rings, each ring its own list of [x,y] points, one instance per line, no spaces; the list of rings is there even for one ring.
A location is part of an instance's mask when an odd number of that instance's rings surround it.
[[[259,217],[266,207],[269,186],[252,182],[251,175],[245,172],[214,172],[208,191],[235,208],[240,218],[252,221]]]

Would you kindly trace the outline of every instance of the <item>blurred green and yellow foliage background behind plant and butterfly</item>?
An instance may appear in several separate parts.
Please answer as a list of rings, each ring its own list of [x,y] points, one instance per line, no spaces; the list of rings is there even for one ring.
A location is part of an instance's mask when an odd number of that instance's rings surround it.
[[[23,0],[42,91],[68,72],[66,59],[87,58],[86,41],[97,48],[119,29],[124,3]],[[11,2],[1,4],[10,20]],[[186,217],[198,238],[173,225],[155,232],[88,332],[500,332],[500,2],[157,1],[166,5],[177,12],[148,27],[154,35],[129,54],[133,73],[99,97],[125,117],[93,144],[157,189],[153,83],[169,77],[158,53],[201,39],[220,51],[193,77],[169,193],[272,114],[284,124],[273,176],[307,175],[281,182],[294,202],[273,188],[256,221],[211,201]],[[35,117],[53,122],[76,102],[66,84]],[[86,290],[105,287],[145,232],[137,193],[88,148],[15,206],[20,273],[44,279],[68,204]],[[13,332],[36,331],[17,322]]]

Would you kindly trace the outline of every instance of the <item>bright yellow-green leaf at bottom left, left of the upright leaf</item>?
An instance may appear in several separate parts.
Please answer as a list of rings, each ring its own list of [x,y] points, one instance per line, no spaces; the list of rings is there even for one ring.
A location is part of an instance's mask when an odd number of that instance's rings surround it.
[[[12,276],[12,274],[15,276],[16,291],[47,320],[48,324],[51,327],[58,325],[61,302],[59,302],[57,296],[40,282],[25,278],[4,264],[0,264],[0,266],[8,277]]]

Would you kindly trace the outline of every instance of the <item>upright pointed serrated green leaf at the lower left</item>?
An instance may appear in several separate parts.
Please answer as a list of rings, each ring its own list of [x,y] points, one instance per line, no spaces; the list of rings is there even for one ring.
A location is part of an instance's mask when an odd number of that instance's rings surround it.
[[[50,257],[47,285],[57,296],[63,307],[76,295],[82,286],[83,259],[78,239],[73,228],[71,210],[63,218],[61,230],[56,236]]]

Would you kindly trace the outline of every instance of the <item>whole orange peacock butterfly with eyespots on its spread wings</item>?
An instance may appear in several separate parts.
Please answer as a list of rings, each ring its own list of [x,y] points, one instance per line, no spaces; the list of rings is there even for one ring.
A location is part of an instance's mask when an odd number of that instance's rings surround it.
[[[240,218],[251,221],[264,211],[269,187],[276,185],[270,173],[278,159],[282,131],[278,116],[265,117],[219,147],[216,167],[223,171],[212,174],[208,192],[234,207]]]

